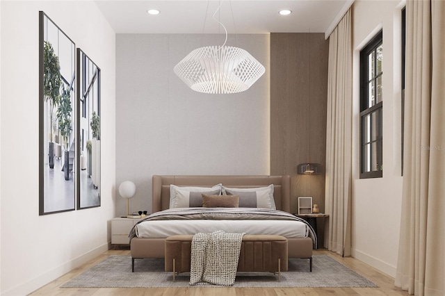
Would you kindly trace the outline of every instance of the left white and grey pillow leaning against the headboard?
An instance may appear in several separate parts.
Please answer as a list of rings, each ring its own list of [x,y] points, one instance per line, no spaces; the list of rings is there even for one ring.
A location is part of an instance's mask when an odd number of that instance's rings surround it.
[[[170,184],[170,208],[202,206],[202,196],[197,192],[207,192],[210,195],[220,195],[221,189],[222,184],[217,184],[213,187],[179,187]],[[190,192],[194,193],[190,194]],[[190,202],[190,197],[192,197],[192,202]]]

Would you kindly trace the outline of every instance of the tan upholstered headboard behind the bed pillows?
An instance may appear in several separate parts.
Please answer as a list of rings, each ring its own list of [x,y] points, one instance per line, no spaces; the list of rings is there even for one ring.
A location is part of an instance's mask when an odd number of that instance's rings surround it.
[[[152,178],[152,211],[170,206],[170,184],[211,187],[218,183],[231,188],[264,187],[273,184],[277,210],[291,211],[291,177],[285,176],[158,176]]]

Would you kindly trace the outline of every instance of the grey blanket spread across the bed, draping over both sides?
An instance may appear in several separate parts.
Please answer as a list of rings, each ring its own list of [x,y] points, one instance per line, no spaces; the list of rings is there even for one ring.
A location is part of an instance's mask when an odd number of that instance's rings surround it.
[[[309,238],[312,238],[314,246],[317,240],[314,229],[306,220],[270,208],[169,208],[152,213],[137,224],[148,220],[295,220],[307,225]],[[131,229],[130,240],[136,236],[136,225]]]

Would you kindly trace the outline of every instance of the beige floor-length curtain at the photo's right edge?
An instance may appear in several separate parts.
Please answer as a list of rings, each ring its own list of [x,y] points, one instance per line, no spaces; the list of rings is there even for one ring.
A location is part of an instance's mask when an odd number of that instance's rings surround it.
[[[396,286],[445,295],[445,1],[407,1],[403,200]]]

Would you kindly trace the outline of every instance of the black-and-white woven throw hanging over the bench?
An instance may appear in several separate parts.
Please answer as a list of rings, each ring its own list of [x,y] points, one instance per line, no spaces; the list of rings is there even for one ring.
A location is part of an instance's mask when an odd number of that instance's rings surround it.
[[[245,233],[196,233],[192,240],[190,284],[232,286]]]

